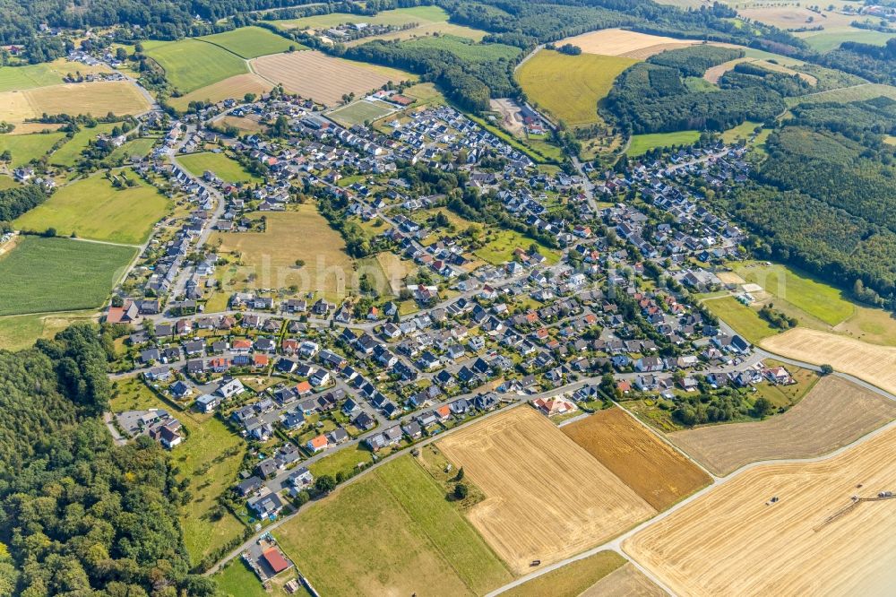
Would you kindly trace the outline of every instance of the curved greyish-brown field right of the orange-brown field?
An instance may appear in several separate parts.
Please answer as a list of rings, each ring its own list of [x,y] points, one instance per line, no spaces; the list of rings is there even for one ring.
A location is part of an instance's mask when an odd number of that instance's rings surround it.
[[[893,419],[896,402],[827,376],[782,415],[687,429],[668,438],[713,474],[727,475],[746,463],[827,454]]]

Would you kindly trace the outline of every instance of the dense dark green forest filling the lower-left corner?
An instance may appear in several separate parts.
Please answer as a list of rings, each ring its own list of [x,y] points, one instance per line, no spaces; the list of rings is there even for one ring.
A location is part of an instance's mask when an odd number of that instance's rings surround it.
[[[79,324],[0,350],[0,594],[216,591],[188,572],[168,455],[114,446],[101,422],[114,332]]]

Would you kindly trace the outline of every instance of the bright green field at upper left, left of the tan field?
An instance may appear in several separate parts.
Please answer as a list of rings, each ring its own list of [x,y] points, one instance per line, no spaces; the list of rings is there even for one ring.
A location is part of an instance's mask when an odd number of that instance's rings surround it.
[[[246,61],[236,54],[198,39],[172,41],[146,55],[165,69],[168,82],[182,93],[249,72]]]

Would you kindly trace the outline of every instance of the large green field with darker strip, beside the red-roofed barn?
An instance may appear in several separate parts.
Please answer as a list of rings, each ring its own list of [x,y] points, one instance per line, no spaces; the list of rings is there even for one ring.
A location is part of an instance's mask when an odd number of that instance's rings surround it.
[[[402,457],[274,535],[325,595],[474,595],[511,575],[442,489]]]

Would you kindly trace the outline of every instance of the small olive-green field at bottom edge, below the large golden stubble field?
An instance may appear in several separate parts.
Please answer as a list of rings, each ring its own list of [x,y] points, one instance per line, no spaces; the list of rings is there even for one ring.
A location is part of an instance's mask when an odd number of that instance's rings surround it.
[[[624,565],[625,558],[616,551],[599,551],[501,594],[506,597],[577,597],[592,584],[616,574],[615,571]]]

